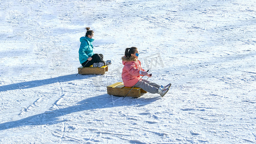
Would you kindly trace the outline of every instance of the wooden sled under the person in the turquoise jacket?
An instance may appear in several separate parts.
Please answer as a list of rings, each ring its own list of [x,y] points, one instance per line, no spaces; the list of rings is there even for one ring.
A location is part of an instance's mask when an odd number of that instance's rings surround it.
[[[83,68],[83,66],[80,66],[78,68],[79,74],[105,74],[105,72],[109,71],[109,67],[107,65],[102,66],[100,68],[92,67],[92,65],[91,65],[90,67],[84,67],[83,70],[81,71],[82,68]]]

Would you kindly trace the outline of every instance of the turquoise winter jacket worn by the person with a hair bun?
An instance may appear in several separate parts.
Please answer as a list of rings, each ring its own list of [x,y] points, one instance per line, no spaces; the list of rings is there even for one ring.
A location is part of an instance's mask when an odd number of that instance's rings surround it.
[[[89,57],[93,56],[93,45],[92,42],[94,39],[91,39],[87,36],[82,36],[80,38],[80,48],[79,48],[79,61],[80,63],[84,63]]]

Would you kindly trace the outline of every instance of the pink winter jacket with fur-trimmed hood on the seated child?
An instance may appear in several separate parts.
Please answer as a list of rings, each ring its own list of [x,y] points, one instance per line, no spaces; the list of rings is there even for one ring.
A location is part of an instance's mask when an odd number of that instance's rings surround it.
[[[140,77],[140,71],[145,71],[141,68],[140,61],[131,57],[127,58],[125,56],[122,57],[122,64],[124,65],[122,68],[122,82],[124,86],[132,87],[134,86]]]

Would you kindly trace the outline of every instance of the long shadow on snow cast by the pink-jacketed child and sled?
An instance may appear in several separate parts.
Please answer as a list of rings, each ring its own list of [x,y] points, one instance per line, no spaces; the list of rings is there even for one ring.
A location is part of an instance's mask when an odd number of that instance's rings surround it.
[[[34,116],[30,116],[21,120],[9,121],[0,123],[0,131],[7,130],[11,128],[27,126],[27,125],[52,125],[56,123],[60,123],[60,119],[58,117],[71,114],[74,112],[84,111],[84,110],[92,110],[92,109],[100,109],[100,108],[114,108],[121,106],[145,106],[159,99],[158,97],[153,98],[128,98],[126,97],[122,100],[123,97],[110,96],[108,94],[93,96],[87,98],[81,102],[78,102],[76,106],[71,106],[68,108],[61,108],[56,110],[49,110],[41,114],[37,114]]]

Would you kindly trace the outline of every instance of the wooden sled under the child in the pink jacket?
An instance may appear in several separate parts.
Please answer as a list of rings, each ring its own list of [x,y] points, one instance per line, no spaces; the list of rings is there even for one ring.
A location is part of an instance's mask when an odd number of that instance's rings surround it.
[[[109,95],[126,96],[126,94],[131,90],[131,88],[132,87],[125,87],[122,82],[118,82],[107,86],[107,91]],[[145,90],[139,87],[134,87],[127,96],[140,97],[144,93],[146,93]]]

